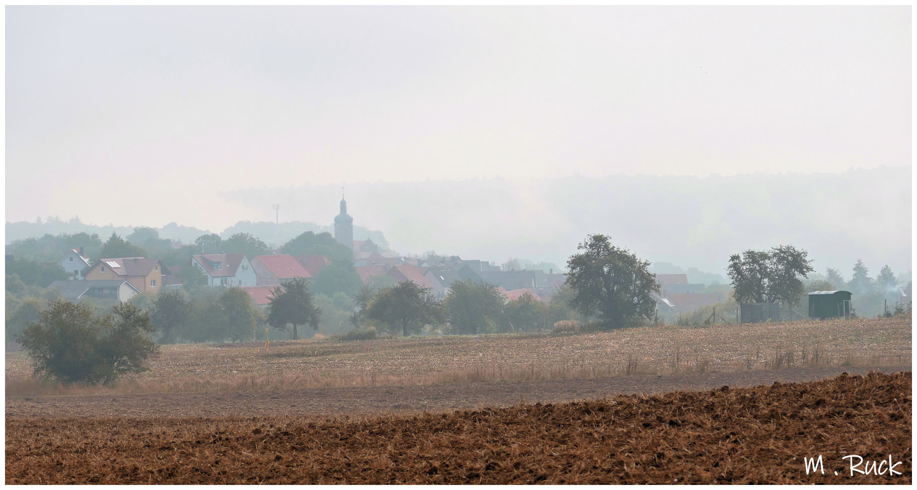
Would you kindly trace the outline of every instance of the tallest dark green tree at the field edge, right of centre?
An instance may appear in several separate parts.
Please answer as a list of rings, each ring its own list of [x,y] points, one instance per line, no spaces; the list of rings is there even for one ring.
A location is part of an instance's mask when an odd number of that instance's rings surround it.
[[[659,292],[649,262],[612,245],[603,234],[591,234],[577,246],[582,250],[567,262],[567,284],[573,289],[570,306],[585,316],[597,313],[605,328],[623,328],[656,317]]]

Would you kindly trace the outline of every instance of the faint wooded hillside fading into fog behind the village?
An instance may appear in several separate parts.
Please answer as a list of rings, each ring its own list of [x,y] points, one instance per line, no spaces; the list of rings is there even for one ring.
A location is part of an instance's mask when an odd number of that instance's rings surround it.
[[[340,199],[340,185],[226,191],[256,210],[282,202],[310,216]],[[729,256],[792,244],[814,267],[849,277],[857,258],[870,274],[911,269],[911,169],[710,177],[572,176],[539,180],[348,183],[354,223],[384,230],[403,253],[428,250],[502,262],[565,264],[587,234],[653,262],[725,276]],[[317,217],[315,218],[317,219]]]

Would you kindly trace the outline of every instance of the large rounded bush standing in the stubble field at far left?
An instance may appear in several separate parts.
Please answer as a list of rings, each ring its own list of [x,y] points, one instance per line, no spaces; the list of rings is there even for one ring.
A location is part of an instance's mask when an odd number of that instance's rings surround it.
[[[149,338],[155,330],[149,313],[122,303],[113,314],[94,315],[89,307],[51,301],[19,337],[32,359],[35,374],[65,384],[109,384],[127,373],[144,371],[159,346]]]

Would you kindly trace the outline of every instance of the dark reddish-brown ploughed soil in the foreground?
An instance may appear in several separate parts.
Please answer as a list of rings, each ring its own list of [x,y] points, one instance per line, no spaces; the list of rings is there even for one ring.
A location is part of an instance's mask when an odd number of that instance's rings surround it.
[[[848,454],[902,474],[851,475]],[[910,484],[911,374],[414,416],[7,418],[6,483]]]

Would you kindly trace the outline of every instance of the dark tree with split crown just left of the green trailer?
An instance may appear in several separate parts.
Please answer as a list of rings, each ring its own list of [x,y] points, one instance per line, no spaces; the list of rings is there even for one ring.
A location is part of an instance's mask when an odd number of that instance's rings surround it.
[[[815,270],[807,256],[808,252],[791,245],[768,251],[746,250],[742,255],[730,256],[727,271],[736,302],[779,302],[795,307],[805,293],[801,278]]]

